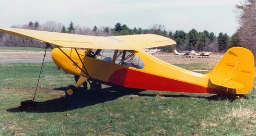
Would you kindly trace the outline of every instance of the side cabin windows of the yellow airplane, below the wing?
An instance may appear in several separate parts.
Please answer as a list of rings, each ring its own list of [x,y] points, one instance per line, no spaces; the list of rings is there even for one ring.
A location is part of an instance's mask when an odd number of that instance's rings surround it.
[[[143,69],[144,63],[133,51],[125,50],[101,50],[97,55],[97,59],[108,61],[111,63]]]

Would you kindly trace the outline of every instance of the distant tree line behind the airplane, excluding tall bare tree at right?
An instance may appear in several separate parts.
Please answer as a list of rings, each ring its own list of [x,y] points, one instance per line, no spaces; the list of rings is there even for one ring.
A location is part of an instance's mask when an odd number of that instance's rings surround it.
[[[46,21],[43,24],[36,22],[28,22],[21,26],[11,26],[11,28],[21,28],[21,29],[31,29],[31,30],[41,30],[50,32],[62,32],[62,33],[73,33],[73,34],[83,34],[83,35],[95,35],[95,36],[113,36],[113,35],[130,35],[130,34],[158,34],[171,38],[177,42],[175,48],[182,51],[225,51],[228,48],[228,43],[230,41],[227,33],[219,33],[218,37],[213,32],[208,32],[204,30],[203,32],[197,32],[192,29],[188,33],[183,30],[176,30],[174,33],[167,31],[165,26],[162,24],[153,24],[152,27],[148,29],[142,28],[129,28],[126,24],[116,23],[114,27],[100,27],[94,26],[80,27],[71,21],[68,27],[63,26],[63,23],[56,21]],[[24,46],[24,47],[44,47],[43,43],[38,41],[18,38],[13,35],[1,34],[0,35],[0,46]],[[162,47],[166,52],[171,52],[173,47],[166,46]]]

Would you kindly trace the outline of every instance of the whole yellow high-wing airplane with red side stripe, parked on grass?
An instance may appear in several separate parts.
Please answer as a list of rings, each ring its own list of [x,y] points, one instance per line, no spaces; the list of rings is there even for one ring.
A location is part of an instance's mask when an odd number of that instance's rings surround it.
[[[0,32],[53,44],[52,59],[65,73],[78,76],[66,95],[89,81],[91,89],[101,83],[125,88],[188,93],[246,94],[255,77],[254,57],[243,47],[232,47],[206,74],[168,64],[145,52],[146,48],[176,42],[155,34],[87,36],[6,28]]]

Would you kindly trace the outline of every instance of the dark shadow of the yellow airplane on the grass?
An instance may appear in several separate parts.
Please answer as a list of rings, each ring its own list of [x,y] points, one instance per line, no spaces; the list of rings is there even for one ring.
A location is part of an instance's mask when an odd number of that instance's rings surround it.
[[[58,88],[54,90],[64,90],[65,88]],[[104,103],[107,101],[116,100],[119,97],[125,95],[138,95],[138,96],[149,96],[155,97],[157,94],[145,94],[139,93],[143,90],[136,89],[122,89],[119,91],[115,88],[105,88],[102,91],[84,91],[83,88],[79,88],[76,96],[73,97],[60,97],[53,100],[48,100],[44,102],[36,102],[32,100],[21,102],[21,106],[7,109],[8,112],[27,112],[27,113],[53,113],[53,112],[66,112],[68,110],[73,110],[76,108],[83,108],[86,106],[95,105],[98,103]],[[230,97],[223,95],[213,95],[210,97],[203,96],[189,96],[184,94],[171,94],[171,95],[160,95],[161,97],[195,97],[195,98],[205,98],[208,101],[219,101],[219,100],[230,100]]]

